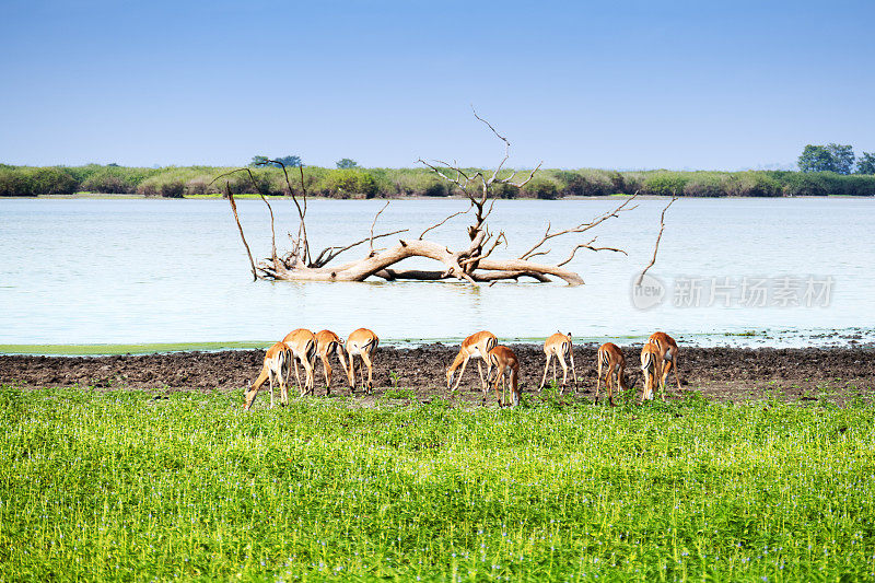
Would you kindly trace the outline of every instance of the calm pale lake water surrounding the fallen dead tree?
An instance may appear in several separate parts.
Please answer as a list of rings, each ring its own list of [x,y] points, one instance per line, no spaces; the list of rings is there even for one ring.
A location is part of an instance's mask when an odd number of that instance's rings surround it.
[[[366,236],[383,203],[311,202],[313,247]],[[571,226],[616,203],[499,201],[491,224],[505,231],[511,246],[494,256],[520,255],[548,221],[557,229]],[[386,341],[453,339],[482,328],[508,339],[542,338],[560,329],[622,340],[666,329],[702,345],[831,343],[854,334],[871,341],[875,201],[679,200],[667,212],[660,256],[650,271],[664,285],[664,302],[640,310],[632,304],[631,283],[650,261],[664,203],[642,200],[591,231],[598,244],[623,247],[629,255],[579,252],[568,267],[586,285],[569,288],[560,281],[490,288],[254,283],[223,200],[0,200],[0,343],[271,341],[295,327],[346,335],[360,326]],[[260,200],[238,206],[253,252],[267,255],[266,207]],[[460,200],[393,201],[376,231],[410,228],[417,237],[465,206]],[[277,201],[275,211],[278,246],[287,248],[285,233],[295,228],[291,202]],[[467,218],[458,217],[429,238],[459,247],[466,224]],[[573,241],[558,240],[553,255],[567,256]],[[357,248],[347,257],[363,253]],[[711,278],[718,278],[713,298]],[[752,306],[739,305],[743,278],[748,278],[745,290],[751,292]],[[767,305],[756,305],[762,299],[752,294],[756,281],[768,288]],[[806,296],[808,287],[819,295]],[[685,291],[697,288],[698,301]],[[792,305],[795,301],[802,305]],[[751,330],[757,336],[738,336]]]

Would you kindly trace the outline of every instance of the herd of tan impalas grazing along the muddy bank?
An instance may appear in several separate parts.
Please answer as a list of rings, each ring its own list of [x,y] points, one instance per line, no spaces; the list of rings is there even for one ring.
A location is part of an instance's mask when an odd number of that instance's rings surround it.
[[[318,357],[323,363],[323,371],[325,374],[326,394],[330,394],[331,386],[331,364],[329,357],[337,355],[343,372],[347,374],[349,381],[349,388],[351,394],[355,394],[355,357],[361,358],[361,386],[365,395],[370,395],[373,390],[374,366],[373,358],[374,352],[380,345],[380,338],[369,330],[368,328],[359,328],[349,335],[346,342],[340,339],[335,333],[330,330],[320,330],[316,334],[304,329],[298,328],[290,331],[285,338],[276,345],[271,346],[265,354],[265,363],[258,378],[255,380],[246,388],[244,405],[245,410],[249,410],[255,401],[258,390],[268,383],[270,386],[270,407],[273,407],[273,385],[279,385],[280,388],[280,403],[285,405],[289,403],[288,385],[291,384],[291,371],[294,368],[295,380],[298,381],[299,388],[301,385],[301,376],[298,369],[300,362],[304,369],[304,384],[301,389],[300,396],[313,395],[314,385],[316,384],[316,358]],[[347,359],[349,357],[349,364]],[[557,383],[556,359],[562,366],[562,384],[559,389],[561,395],[568,385],[568,369],[571,364],[571,375],[574,382],[574,394],[578,393],[578,373],[574,371],[574,353],[571,346],[571,335],[557,333],[544,342],[544,353],[547,357],[547,363],[544,365],[544,376],[541,377],[538,393],[544,388],[547,383],[547,373],[550,369],[550,362],[553,363],[553,383]],[[462,383],[462,375],[465,373],[465,368],[468,361],[477,359],[477,371],[480,374],[480,388],[482,390],[483,404],[486,404],[487,395],[489,393],[489,385],[495,390],[495,397],[499,406],[505,405],[520,405],[520,361],[513,350],[498,342],[495,335],[490,331],[479,331],[467,337],[459,348],[453,363],[446,369],[446,388],[452,393],[458,389]],[[656,389],[661,389],[661,397],[665,400],[665,383],[668,374],[674,371],[675,381],[677,381],[677,388],[680,390],[680,380],[677,376],[677,359],[678,348],[674,338],[665,333],[654,333],[644,343],[641,349],[641,372],[644,376],[644,388],[641,394],[641,403],[644,400],[652,400]],[[486,376],[480,363],[486,363]],[[607,393],[608,401],[611,406],[614,403],[615,392],[620,394],[626,390],[634,388],[626,381],[626,358],[620,348],[612,342],[605,342],[598,347],[596,355],[598,376],[595,387],[595,403],[598,404],[598,395],[602,388],[602,383],[605,383],[605,392]],[[364,381],[364,366],[368,366],[368,382]],[[459,370],[460,368],[460,370]],[[458,378],[453,384],[453,378],[456,376],[458,370]],[[494,375],[494,376],[493,376]],[[494,378],[494,380],[493,380]],[[506,382],[506,385],[505,385]],[[501,385],[501,392],[499,392]],[[511,403],[506,401],[506,388],[510,387]]]

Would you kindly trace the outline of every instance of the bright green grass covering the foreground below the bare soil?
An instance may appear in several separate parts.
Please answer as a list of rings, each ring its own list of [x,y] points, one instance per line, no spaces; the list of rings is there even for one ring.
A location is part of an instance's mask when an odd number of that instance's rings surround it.
[[[875,578],[862,404],[0,401],[3,581]]]

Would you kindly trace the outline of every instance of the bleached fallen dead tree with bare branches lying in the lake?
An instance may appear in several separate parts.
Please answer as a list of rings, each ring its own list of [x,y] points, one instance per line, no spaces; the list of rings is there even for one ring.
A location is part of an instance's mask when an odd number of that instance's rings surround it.
[[[455,212],[443,219],[441,222],[430,226],[429,229],[425,229],[422,234],[419,235],[419,237],[399,238],[397,244],[383,249],[374,249],[374,241],[408,231],[407,229],[404,229],[400,231],[374,235],[374,225],[376,224],[376,219],[386,207],[383,207],[383,209],[381,209],[380,212],[377,212],[374,217],[374,222],[371,224],[371,232],[369,236],[348,245],[326,247],[314,256],[307,242],[307,231],[305,224],[307,212],[307,194],[304,185],[303,167],[299,166],[299,171],[301,173],[301,186],[303,189],[303,194],[299,200],[299,197],[292,189],[285,165],[278,160],[269,160],[264,162],[266,164],[275,163],[282,168],[283,175],[285,176],[288,195],[292,198],[298,211],[299,226],[296,236],[290,234],[292,238],[292,249],[285,255],[278,255],[276,232],[273,229],[273,209],[270,207],[270,202],[267,200],[267,198],[261,195],[261,200],[264,200],[265,205],[267,205],[268,210],[270,211],[272,252],[270,257],[259,261],[258,264],[253,260],[252,254],[249,254],[249,263],[253,269],[253,276],[256,279],[287,281],[363,281],[364,279],[374,276],[387,281],[434,281],[452,279],[464,280],[469,283],[494,282],[499,280],[511,279],[518,281],[520,278],[532,278],[536,281],[547,282],[551,281],[550,277],[552,276],[564,280],[571,285],[580,285],[583,283],[581,276],[574,271],[564,269],[563,267],[574,258],[574,254],[579,249],[590,249],[595,252],[611,250],[626,254],[625,250],[614,247],[596,247],[594,246],[596,240],[593,237],[585,243],[576,244],[576,246],[571,249],[568,257],[561,261],[547,264],[533,260],[533,258],[545,256],[552,250],[551,248],[542,248],[545,243],[548,241],[552,241],[556,237],[563,235],[585,233],[586,231],[597,226],[608,219],[618,217],[619,213],[623,211],[632,210],[634,207],[629,207],[629,203],[638,196],[638,193],[626,199],[621,205],[617,206],[612,210],[594,218],[587,223],[581,223],[575,226],[556,232],[552,232],[552,226],[548,224],[544,236],[532,247],[529,247],[528,250],[516,258],[493,258],[492,253],[495,250],[495,248],[501,243],[504,243],[505,245],[508,244],[508,237],[505,236],[504,232],[498,231],[498,233],[495,233],[494,231],[490,230],[489,224],[487,223],[487,219],[491,214],[492,208],[495,205],[493,187],[495,185],[511,185],[522,188],[534,178],[535,173],[540,168],[542,163],[538,164],[534,170],[527,172],[521,177],[521,179],[516,180],[517,174],[520,174],[517,171],[504,171],[504,164],[510,158],[510,141],[508,141],[504,136],[500,135],[495,128],[489,124],[489,121],[477,115],[477,112],[474,112],[474,116],[479,121],[485,124],[498,139],[504,142],[504,158],[502,158],[498,167],[491,173],[485,173],[483,171],[466,173],[462,167],[455,164],[448,164],[442,161],[433,161],[433,163],[430,163],[425,162],[424,160],[418,160],[418,163],[431,168],[442,179],[455,185],[463,193],[465,193],[470,201],[470,205],[467,210]],[[260,194],[252,171],[248,168],[240,168],[234,172],[248,173],[256,191]],[[501,177],[500,175],[502,173],[505,173],[506,175]],[[224,174],[222,176],[226,175],[228,174]],[[222,176],[219,176],[215,179],[218,180]],[[243,240],[248,253],[249,247],[246,244],[246,238],[243,234],[243,228],[240,224],[236,205],[234,203],[234,196],[231,194],[231,188],[228,186],[228,184],[225,186],[228,198],[231,202],[231,209],[234,213],[234,219],[237,222],[237,228],[240,229],[241,238]],[[388,202],[386,205],[388,205]],[[422,238],[425,233],[436,229],[438,226],[441,226],[450,219],[459,214],[468,213],[472,214],[474,221],[472,224],[467,228],[467,234],[470,243],[466,248],[451,250],[445,245]],[[341,253],[365,243],[369,244],[370,250],[364,257],[340,265],[328,265]],[[396,269],[394,267],[399,261],[410,257],[425,257],[433,259],[441,264],[442,268],[435,270],[419,270]]]

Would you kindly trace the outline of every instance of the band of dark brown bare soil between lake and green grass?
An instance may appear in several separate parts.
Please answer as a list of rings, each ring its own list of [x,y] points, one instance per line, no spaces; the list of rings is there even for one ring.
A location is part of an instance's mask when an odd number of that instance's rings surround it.
[[[544,373],[544,351],[535,345],[513,345],[521,364],[524,393],[537,390]],[[625,347],[629,381],[642,381],[638,370],[641,346]],[[387,389],[404,390],[406,400],[429,401],[448,397],[445,366],[458,348],[428,345],[415,349],[381,347],[374,361],[374,394],[357,393],[357,401],[368,406]],[[595,396],[594,346],[574,348],[579,376],[578,399]],[[23,357],[0,355],[0,384],[24,388],[80,386],[100,389],[148,389],[154,392],[199,390],[241,393],[258,375],[264,352],[240,350],[223,352],[176,352],[147,355],[114,357]],[[349,395],[339,362],[335,368],[331,395]],[[357,362],[357,369],[360,363]],[[844,405],[862,398],[870,400],[875,390],[875,350],[860,348],[829,349],[680,349],[679,376],[684,393],[699,392],[713,400],[740,401],[771,399],[819,401]],[[561,382],[562,371],[559,369]],[[550,371],[550,376],[552,371]],[[316,395],[325,395],[322,364],[317,364]],[[677,386],[669,384],[669,398],[677,396]],[[604,390],[604,387],[603,387]],[[291,394],[295,394],[294,389]],[[390,392],[387,397],[397,396]],[[481,393],[477,361],[470,361],[457,396],[462,401],[479,405]],[[267,399],[259,398],[265,403]],[[488,403],[494,404],[490,392]]]

